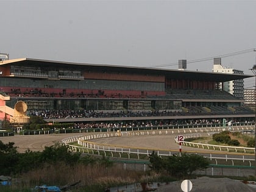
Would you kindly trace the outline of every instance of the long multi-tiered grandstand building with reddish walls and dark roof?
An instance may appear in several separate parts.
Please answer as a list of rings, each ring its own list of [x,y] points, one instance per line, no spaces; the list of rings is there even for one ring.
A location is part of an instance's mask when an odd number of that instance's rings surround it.
[[[243,107],[241,97],[224,90],[226,82],[243,82],[248,77],[252,76],[27,58],[4,59],[0,61],[0,87],[5,101],[1,102],[0,117],[12,116],[8,109],[16,102],[24,101],[30,114],[84,110],[101,112],[107,117],[54,117],[54,121],[62,122],[254,119],[254,112]],[[130,112],[151,115],[131,116],[128,115]],[[124,115],[111,116],[112,113]]]

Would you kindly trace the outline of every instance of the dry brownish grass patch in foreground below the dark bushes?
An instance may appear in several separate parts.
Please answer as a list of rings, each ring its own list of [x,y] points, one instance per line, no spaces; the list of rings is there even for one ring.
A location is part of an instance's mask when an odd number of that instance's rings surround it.
[[[31,192],[38,185],[55,185],[63,187],[70,183],[80,183],[68,191],[91,192],[105,191],[106,188],[124,186],[137,182],[158,182],[176,180],[170,176],[161,176],[153,171],[124,171],[116,165],[105,167],[101,165],[75,165],[65,164],[45,165],[43,168],[34,169],[17,176],[12,185],[1,186],[1,192]]]

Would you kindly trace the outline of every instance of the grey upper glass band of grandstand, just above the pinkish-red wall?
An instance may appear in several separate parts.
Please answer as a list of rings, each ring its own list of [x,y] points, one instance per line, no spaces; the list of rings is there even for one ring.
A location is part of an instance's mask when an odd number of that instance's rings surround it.
[[[1,78],[1,87],[60,88],[60,89],[91,89],[91,90],[144,90],[165,91],[162,82],[134,82],[120,80],[43,80],[28,78]]]

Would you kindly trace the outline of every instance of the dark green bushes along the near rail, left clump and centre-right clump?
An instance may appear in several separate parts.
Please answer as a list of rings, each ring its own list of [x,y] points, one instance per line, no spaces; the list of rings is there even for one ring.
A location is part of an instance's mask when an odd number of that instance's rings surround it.
[[[100,164],[106,167],[112,166],[113,162],[106,157],[97,158],[93,155],[81,155],[80,152],[71,152],[69,146],[63,143],[55,143],[52,146],[44,147],[44,150],[20,153],[14,146],[15,143],[7,144],[0,141],[0,170],[1,175],[21,174],[47,164],[58,165],[65,163],[68,166],[95,165]],[[180,154],[168,157],[160,157],[155,152],[149,155],[149,167],[152,171],[169,174],[170,176],[191,175],[197,169],[205,169],[209,165],[207,158],[196,154]]]

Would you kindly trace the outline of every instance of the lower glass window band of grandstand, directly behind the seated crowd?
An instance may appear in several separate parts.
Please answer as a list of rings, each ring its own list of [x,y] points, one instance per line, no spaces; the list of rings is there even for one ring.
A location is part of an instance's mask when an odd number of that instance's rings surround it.
[[[24,101],[27,110],[180,110],[181,101],[149,100],[149,99],[27,99],[17,98],[7,101],[6,104],[14,107],[17,101]]]

